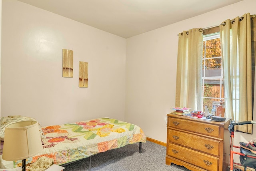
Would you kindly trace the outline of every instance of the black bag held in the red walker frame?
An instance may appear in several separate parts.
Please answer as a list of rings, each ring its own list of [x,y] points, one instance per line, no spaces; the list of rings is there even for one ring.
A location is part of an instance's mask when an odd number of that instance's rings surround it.
[[[256,169],[256,159],[254,159],[252,157],[247,157],[247,155],[251,155],[251,156],[256,157],[256,154],[254,154],[250,150],[247,150],[247,149],[244,149],[244,148],[240,148],[240,152],[245,154],[245,156],[240,155],[240,157],[239,157],[240,158],[240,163],[243,166],[248,166],[248,167]]]

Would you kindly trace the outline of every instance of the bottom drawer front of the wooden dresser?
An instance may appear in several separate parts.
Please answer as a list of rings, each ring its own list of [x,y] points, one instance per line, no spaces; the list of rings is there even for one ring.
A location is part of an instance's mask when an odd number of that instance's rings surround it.
[[[192,165],[201,167],[208,171],[218,171],[219,158],[193,151],[191,149],[169,143],[168,155],[176,159],[185,161]]]

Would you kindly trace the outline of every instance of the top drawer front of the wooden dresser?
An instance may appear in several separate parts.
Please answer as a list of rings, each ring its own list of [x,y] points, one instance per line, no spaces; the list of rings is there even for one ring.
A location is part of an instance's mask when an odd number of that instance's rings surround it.
[[[202,122],[190,121],[185,119],[178,119],[169,117],[169,127],[174,127],[176,129],[184,129],[187,131],[200,133],[204,135],[209,135],[212,137],[220,137],[220,126],[211,125]]]

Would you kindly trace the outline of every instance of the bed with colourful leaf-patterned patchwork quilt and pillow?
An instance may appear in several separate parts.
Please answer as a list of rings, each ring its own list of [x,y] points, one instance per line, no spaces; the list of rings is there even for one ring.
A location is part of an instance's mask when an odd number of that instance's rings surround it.
[[[6,125],[28,119],[35,120],[21,115],[1,117],[1,143],[4,141]],[[52,158],[57,165],[66,165],[89,157],[90,171],[90,158],[93,155],[133,143],[140,143],[141,153],[141,144],[146,142],[145,134],[137,125],[108,117],[63,125],[38,126],[43,150],[38,155],[28,158],[27,163],[33,163],[39,157],[46,156]],[[21,161],[5,161],[2,155],[0,160],[0,168],[3,169],[17,168],[22,164]]]

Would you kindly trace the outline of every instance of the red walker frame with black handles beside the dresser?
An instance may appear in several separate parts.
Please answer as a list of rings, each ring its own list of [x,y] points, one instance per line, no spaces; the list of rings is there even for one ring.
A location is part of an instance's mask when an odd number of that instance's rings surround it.
[[[238,123],[236,123],[235,121],[231,121],[231,123],[228,127],[228,130],[230,132],[230,166],[229,166],[230,171],[233,171],[234,164],[242,166],[241,163],[233,162],[233,155],[234,154],[238,154],[238,155],[242,155],[242,156],[246,155],[247,157],[251,157],[251,158],[256,159],[255,156],[251,156],[251,155],[248,155],[248,154],[233,151],[234,147],[240,149],[240,146],[234,145],[234,126],[235,125],[245,125],[245,124],[256,124],[256,121],[244,121],[244,122],[238,122]],[[244,171],[246,171],[246,166],[244,166]]]

